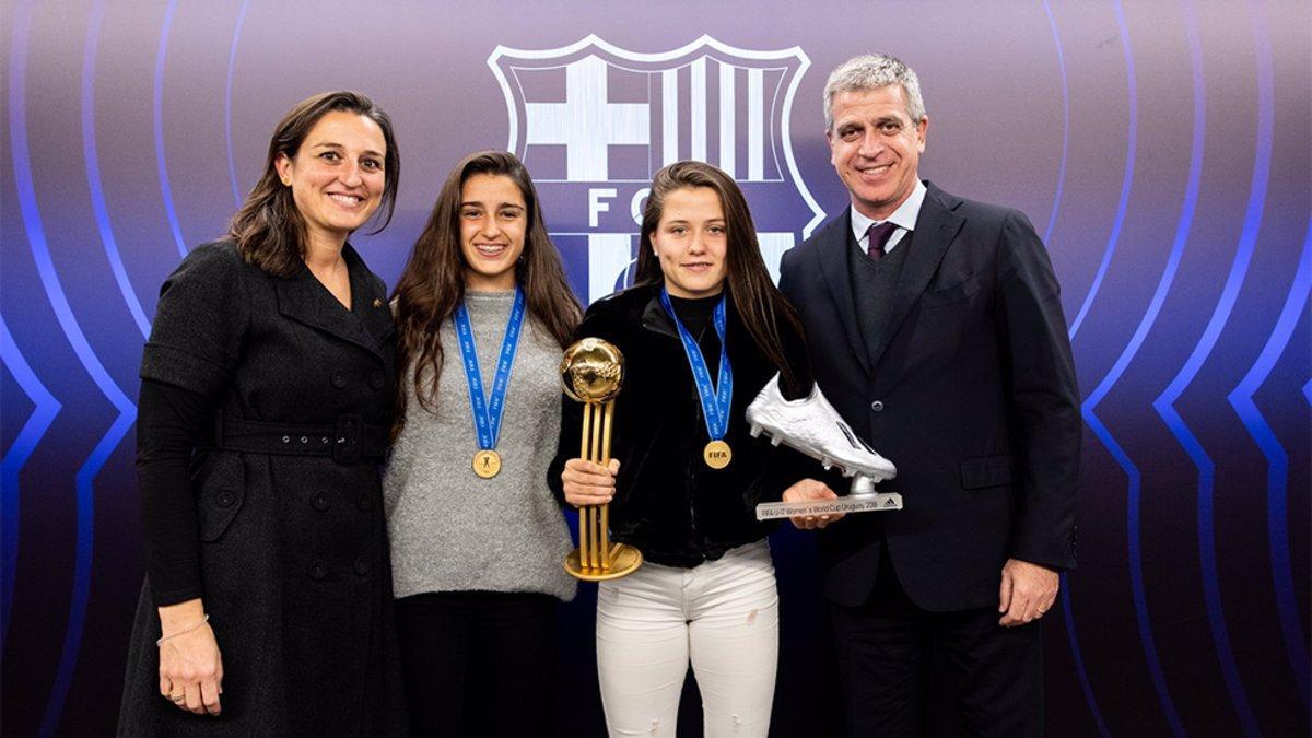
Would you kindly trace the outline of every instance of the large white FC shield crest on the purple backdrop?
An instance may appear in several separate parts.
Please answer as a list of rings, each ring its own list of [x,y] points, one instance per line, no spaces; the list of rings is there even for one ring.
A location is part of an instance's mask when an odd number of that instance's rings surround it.
[[[708,35],[659,54],[589,35],[560,49],[497,46],[508,151],[533,172],[547,227],[586,302],[632,284],[652,175],[695,159],[733,177],[761,255],[779,259],[824,219],[798,173],[789,131],[811,60],[800,47],[735,49]]]

